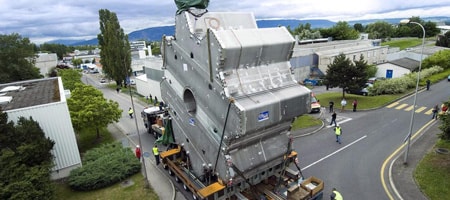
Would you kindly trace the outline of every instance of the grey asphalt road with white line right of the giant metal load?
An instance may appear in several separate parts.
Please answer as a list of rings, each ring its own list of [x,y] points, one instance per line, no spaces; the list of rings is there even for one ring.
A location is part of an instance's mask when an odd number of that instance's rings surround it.
[[[430,91],[418,93],[413,134],[431,120],[432,107],[447,101],[449,94],[446,80],[432,85]],[[326,198],[336,187],[345,199],[388,199],[381,183],[381,166],[409,133],[411,110],[408,108],[412,108],[413,100],[414,95],[392,107],[338,112],[338,123],[339,116],[341,122],[347,120],[340,124],[342,144],[335,142],[333,127],[296,139],[294,147],[299,152],[303,174],[324,181]]]

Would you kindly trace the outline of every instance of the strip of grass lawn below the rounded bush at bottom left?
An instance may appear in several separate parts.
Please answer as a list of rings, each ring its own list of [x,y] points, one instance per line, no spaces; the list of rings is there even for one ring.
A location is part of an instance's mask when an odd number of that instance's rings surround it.
[[[107,188],[88,192],[73,191],[65,183],[56,183],[55,199],[65,199],[65,200],[159,199],[158,196],[153,191],[153,189],[151,188],[146,189],[144,187],[144,176],[142,176],[141,173],[137,173],[131,176],[129,180],[131,180],[130,184],[126,186],[123,183],[117,183]]]

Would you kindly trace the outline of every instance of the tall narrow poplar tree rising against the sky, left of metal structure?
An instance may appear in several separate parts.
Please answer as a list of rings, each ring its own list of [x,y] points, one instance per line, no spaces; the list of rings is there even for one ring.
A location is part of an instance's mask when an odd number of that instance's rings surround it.
[[[131,73],[131,51],[128,35],[120,27],[114,12],[99,10],[100,31],[97,35],[100,45],[103,72],[121,85]]]

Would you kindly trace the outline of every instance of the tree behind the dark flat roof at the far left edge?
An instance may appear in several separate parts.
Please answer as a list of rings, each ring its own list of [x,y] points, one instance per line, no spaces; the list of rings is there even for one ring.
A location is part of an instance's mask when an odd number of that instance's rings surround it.
[[[14,33],[0,35],[0,83],[41,78],[34,66],[34,45]]]

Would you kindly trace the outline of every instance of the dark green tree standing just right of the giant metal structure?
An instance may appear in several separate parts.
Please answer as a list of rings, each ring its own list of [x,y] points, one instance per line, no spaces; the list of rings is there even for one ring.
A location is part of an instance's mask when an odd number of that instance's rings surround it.
[[[333,63],[328,65],[325,81],[329,87],[342,88],[342,98],[345,91],[360,89],[367,81],[367,62],[361,56],[355,64],[341,53],[334,58]]]

